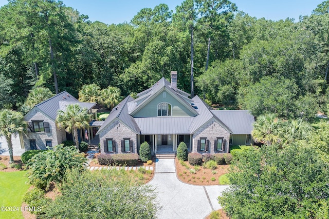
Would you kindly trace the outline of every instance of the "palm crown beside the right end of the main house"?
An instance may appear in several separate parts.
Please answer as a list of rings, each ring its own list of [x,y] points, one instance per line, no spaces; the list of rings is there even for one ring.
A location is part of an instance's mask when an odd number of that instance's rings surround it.
[[[265,114],[257,118],[253,123],[251,135],[255,142],[262,142],[265,145],[280,144],[282,121],[275,114]]]

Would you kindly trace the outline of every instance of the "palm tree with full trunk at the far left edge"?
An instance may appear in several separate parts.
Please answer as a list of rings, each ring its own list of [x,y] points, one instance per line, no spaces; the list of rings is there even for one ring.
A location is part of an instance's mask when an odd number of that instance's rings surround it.
[[[6,138],[8,144],[8,151],[10,156],[9,163],[14,162],[11,136],[26,130],[27,123],[24,121],[22,113],[9,109],[0,111],[0,136]]]

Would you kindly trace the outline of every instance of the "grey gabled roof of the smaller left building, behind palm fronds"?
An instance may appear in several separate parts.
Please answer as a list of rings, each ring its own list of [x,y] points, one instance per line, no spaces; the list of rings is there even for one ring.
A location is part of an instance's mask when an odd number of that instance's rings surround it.
[[[78,99],[76,99],[74,96],[72,96],[71,94],[69,94],[66,91],[63,91],[57,95],[54,95],[53,97],[50,97],[49,99],[46,99],[45,101],[41,102],[40,104],[35,105],[33,107],[33,109],[34,108],[39,109],[46,116],[48,116],[51,120],[55,121],[56,117],[57,117],[57,111],[59,109],[65,110],[66,106],[69,104],[79,104],[81,107],[86,107],[87,110],[89,110],[95,106],[95,103],[79,102]]]

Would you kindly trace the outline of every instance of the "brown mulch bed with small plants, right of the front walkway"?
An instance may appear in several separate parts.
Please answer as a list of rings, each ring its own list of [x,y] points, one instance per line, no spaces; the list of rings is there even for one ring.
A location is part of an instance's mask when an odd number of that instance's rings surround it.
[[[185,161],[190,169],[194,169],[194,166],[190,165],[189,162]],[[176,164],[176,173],[177,177],[180,181],[192,185],[218,185],[218,177],[221,175],[228,173],[228,168],[230,165],[218,165],[217,169],[215,169],[216,173],[213,174],[211,169],[204,168],[200,166],[199,171],[195,173],[191,173],[186,167],[182,166],[178,159],[175,158]],[[213,179],[214,181],[212,181]]]

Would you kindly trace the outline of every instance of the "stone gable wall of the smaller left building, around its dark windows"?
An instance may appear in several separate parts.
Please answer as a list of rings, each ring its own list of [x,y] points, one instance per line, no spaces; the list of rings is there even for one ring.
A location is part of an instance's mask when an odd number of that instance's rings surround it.
[[[66,140],[65,130],[59,129],[55,122],[44,115],[40,110],[34,108],[26,116],[25,121],[31,123],[32,121],[43,121],[49,123],[50,132],[25,132],[23,133],[23,141],[26,150],[30,150],[29,140],[35,140],[37,149],[46,149],[46,140],[51,140],[52,146],[61,144]]]

